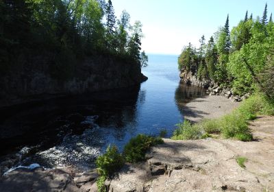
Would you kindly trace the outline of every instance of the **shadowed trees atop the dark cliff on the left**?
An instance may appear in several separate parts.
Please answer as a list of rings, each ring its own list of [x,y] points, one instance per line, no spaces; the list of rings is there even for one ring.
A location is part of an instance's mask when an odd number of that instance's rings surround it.
[[[49,52],[56,69],[97,54],[145,66],[141,38],[140,21],[131,25],[126,11],[116,19],[111,0],[0,1],[1,72]]]

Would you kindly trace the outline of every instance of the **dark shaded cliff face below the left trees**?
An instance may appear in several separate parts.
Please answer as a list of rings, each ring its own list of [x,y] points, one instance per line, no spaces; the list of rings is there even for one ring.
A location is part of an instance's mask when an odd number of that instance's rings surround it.
[[[58,78],[63,73],[66,67],[53,75],[49,57],[38,56],[21,62],[12,72],[0,77],[0,106],[122,88],[147,80],[138,63],[107,56],[85,58],[65,80]]]

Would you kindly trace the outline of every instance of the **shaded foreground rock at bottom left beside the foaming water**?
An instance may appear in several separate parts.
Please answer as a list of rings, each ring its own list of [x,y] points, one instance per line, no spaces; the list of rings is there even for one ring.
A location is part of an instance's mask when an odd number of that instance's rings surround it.
[[[16,169],[0,178],[1,192],[94,192],[97,191],[95,171],[73,173],[69,169]]]

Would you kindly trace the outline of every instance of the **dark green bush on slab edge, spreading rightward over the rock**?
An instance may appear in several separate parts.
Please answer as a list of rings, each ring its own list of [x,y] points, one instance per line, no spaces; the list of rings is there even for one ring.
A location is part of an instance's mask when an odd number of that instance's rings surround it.
[[[124,156],[129,163],[137,163],[145,160],[145,153],[147,150],[164,141],[159,137],[147,136],[145,134],[138,134],[136,137],[130,139],[129,143],[125,145]]]

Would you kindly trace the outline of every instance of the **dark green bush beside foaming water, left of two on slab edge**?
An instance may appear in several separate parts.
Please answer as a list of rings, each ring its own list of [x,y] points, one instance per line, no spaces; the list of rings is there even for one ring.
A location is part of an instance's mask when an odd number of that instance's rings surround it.
[[[96,160],[97,171],[100,176],[112,176],[123,167],[125,160],[122,154],[119,154],[116,146],[108,146],[105,154],[99,156]]]

